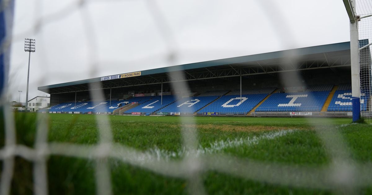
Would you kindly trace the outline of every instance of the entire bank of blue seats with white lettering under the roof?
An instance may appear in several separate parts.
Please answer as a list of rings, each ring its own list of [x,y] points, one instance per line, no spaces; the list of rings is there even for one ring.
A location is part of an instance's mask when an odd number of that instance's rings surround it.
[[[43,108],[38,112],[80,112],[80,113],[107,113],[111,114],[114,110],[131,103],[138,103],[134,108],[128,108],[124,114],[141,113],[151,114],[156,111],[163,113],[180,114],[203,114],[205,112],[218,112],[219,114],[246,114],[254,107],[255,112],[276,112],[276,111],[321,111],[322,107],[330,94],[334,85],[312,85],[306,92],[295,93],[273,93],[276,88],[246,89],[242,90],[242,100],[240,100],[240,90],[219,90],[206,91],[198,97],[184,97],[176,101],[174,95],[133,97],[128,100],[120,101],[81,101],[60,103],[49,108]],[[337,88],[337,90],[336,90]],[[351,84],[341,84],[336,86],[333,97],[327,100],[328,107],[323,111],[352,111]],[[272,94],[273,93],[273,94]],[[225,95],[226,94],[226,95]],[[267,95],[270,97],[267,97]],[[369,92],[361,93],[361,111],[366,111]],[[265,101],[263,99],[267,97]],[[262,101],[262,104],[259,104]],[[136,104],[137,105],[137,104]],[[135,105],[134,105],[135,106]]]

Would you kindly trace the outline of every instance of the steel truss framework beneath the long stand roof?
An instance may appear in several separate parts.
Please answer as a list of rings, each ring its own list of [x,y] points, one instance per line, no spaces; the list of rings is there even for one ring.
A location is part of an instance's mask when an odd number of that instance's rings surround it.
[[[124,79],[112,79],[108,81],[98,82],[96,88],[91,88],[89,83],[70,85],[67,87],[57,87],[49,89],[49,94],[69,93],[76,91],[101,90],[109,88],[135,87],[141,85],[154,85],[161,83],[179,82],[179,81],[195,81],[205,79],[226,79],[229,77],[249,76],[258,74],[273,74],[278,72],[289,71],[305,71],[311,69],[330,68],[333,72],[337,72],[335,68],[350,66],[350,56],[329,56],[323,53],[323,56],[314,60],[296,61],[292,58],[276,59],[278,64],[272,64],[265,61],[254,61],[243,64],[228,64],[222,66],[211,66],[208,68],[196,68],[181,71],[183,74],[172,74],[165,72],[153,75],[143,75],[139,77],[130,77]],[[182,77],[175,77],[182,75]]]

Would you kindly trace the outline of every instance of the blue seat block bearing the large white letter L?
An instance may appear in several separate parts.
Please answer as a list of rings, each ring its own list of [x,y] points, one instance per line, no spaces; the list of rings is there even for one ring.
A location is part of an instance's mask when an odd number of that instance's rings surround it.
[[[153,98],[150,101],[147,101],[145,104],[138,105],[137,107],[131,108],[124,113],[131,114],[135,112],[141,114],[151,114],[176,101],[176,97],[174,95],[163,95],[163,104],[161,104],[160,95],[151,97]]]

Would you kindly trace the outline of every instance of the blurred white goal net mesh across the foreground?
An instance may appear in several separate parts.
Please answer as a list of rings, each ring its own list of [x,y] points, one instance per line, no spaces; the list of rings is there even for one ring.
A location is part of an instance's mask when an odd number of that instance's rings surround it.
[[[1,2],[7,2],[3,0]],[[42,1],[37,1],[36,13],[40,11]],[[44,32],[44,27],[57,23],[58,20],[65,17],[69,17],[73,14],[77,14],[79,19],[82,21],[81,34],[87,42],[89,42],[86,55],[86,62],[89,64],[89,68],[82,71],[83,74],[89,74],[91,78],[97,77],[97,70],[99,67],[106,66],[107,62],[102,62],[97,59],[98,51],[97,44],[100,38],[99,33],[92,25],[93,17],[95,13],[89,12],[90,6],[104,6],[105,4],[115,3],[118,1],[88,1],[78,0],[71,1],[66,6],[55,10],[46,16],[38,16],[35,23],[32,23],[27,32],[16,34],[13,36],[10,42],[12,44],[16,42],[23,42],[25,37],[32,35],[39,35],[40,39],[47,39],[47,32]],[[134,1],[124,1],[134,3]],[[266,2],[266,1],[262,1]],[[281,13],[276,13],[278,10],[275,9],[275,1],[271,3],[262,3],[262,9],[266,11],[270,17],[275,17],[272,20],[285,21]],[[368,4],[369,1],[361,1],[362,3]],[[163,8],[157,5],[158,1],[147,0],[141,1],[141,6],[148,6],[146,14],[154,19],[154,23],[158,28],[158,32],[163,38],[163,42],[166,48],[165,61],[169,65],[176,64],[176,58],[179,56],[179,48],[174,40],[174,35],[169,26],[167,26],[166,17],[163,14]],[[4,4],[6,5],[6,4]],[[132,6],[129,5],[129,6]],[[368,6],[366,6],[368,7]],[[3,7],[6,9],[6,7]],[[371,13],[369,10],[360,10],[365,14]],[[112,18],[114,19],[114,18]],[[366,21],[369,21],[366,19]],[[112,25],[116,25],[113,23]],[[292,37],[285,30],[283,26],[275,26],[275,31],[278,32],[279,42],[287,43],[288,45],[295,45],[291,40]],[[285,26],[285,25],[284,25]],[[365,32],[362,32],[365,29]],[[369,23],[360,23],[360,38],[369,39],[370,36]],[[128,30],[128,29],[126,29]],[[125,33],[125,32],[123,32]],[[31,37],[30,37],[31,38]],[[142,37],[141,37],[142,38]],[[138,39],[141,39],[138,38]],[[103,39],[105,40],[105,39]],[[59,40],[61,41],[61,40]],[[365,43],[361,43],[365,44]],[[39,49],[38,49],[39,48]],[[63,48],[67,52],[68,48]],[[36,51],[42,52],[44,58],[41,60],[45,64],[52,61],[48,59],[51,55],[57,58],[57,55],[48,53],[52,51],[51,48],[44,48],[42,45],[38,45],[36,40]],[[199,51],[198,51],[199,52]],[[203,53],[203,52],[201,52]],[[45,54],[45,55],[44,55]],[[371,74],[371,53],[369,48],[365,52],[361,53],[361,58],[366,68],[361,69],[361,92],[365,97],[365,105],[371,103],[367,100],[369,97],[370,80],[369,75]],[[294,56],[294,53],[288,53],[288,56]],[[144,61],[149,61],[151,58],[145,58]],[[48,61],[50,60],[50,61]],[[150,60],[151,61],[151,60]],[[151,61],[152,62],[152,61]],[[294,65],[296,61],[285,61],[284,63]],[[24,65],[24,64],[22,64]],[[368,66],[368,67],[367,67]],[[56,67],[57,69],[58,67]],[[46,70],[46,73],[39,79],[39,83],[45,79],[51,79],[54,74],[65,74],[68,76],[69,72],[55,71],[53,68]],[[182,72],[174,72],[171,68],[169,69],[169,77],[171,78],[182,78],[184,77]],[[293,80],[301,82],[302,74],[299,71],[292,71],[280,77],[283,83],[288,86],[295,85]],[[182,79],[180,79],[182,80]],[[9,79],[12,82],[12,79]],[[35,86],[41,86],[39,83],[34,83]],[[173,89],[178,91],[189,91],[190,86],[187,82],[173,82],[171,84]],[[90,89],[97,89],[99,86],[95,84],[90,85]],[[203,174],[207,171],[216,171],[219,173],[236,176],[238,178],[247,179],[254,182],[269,183],[277,186],[289,186],[294,188],[309,188],[309,189],[322,189],[330,190],[336,194],[356,194],[358,189],[366,188],[372,184],[372,165],[371,163],[356,163],[352,160],[350,149],[346,145],[343,137],[341,136],[337,126],[324,126],[324,124],[318,123],[315,118],[308,118],[309,124],[316,132],[324,145],[325,150],[330,158],[330,163],[322,165],[320,167],[307,166],[307,165],[289,165],[275,162],[258,161],[254,159],[241,158],[236,156],[230,156],[224,153],[217,153],[215,151],[220,150],[220,145],[231,145],[238,146],[240,144],[254,144],[259,142],[260,139],[274,139],[278,136],[285,136],[286,133],[293,131],[279,131],[271,134],[264,134],[260,137],[253,137],[247,140],[229,140],[228,142],[218,142],[213,144],[210,148],[200,149],[198,141],[198,131],[196,129],[196,121],[193,117],[180,117],[182,123],[182,150],[178,153],[168,153],[160,149],[151,149],[149,151],[143,151],[135,149],[130,146],[126,146],[124,143],[117,143],[113,141],[113,132],[110,127],[110,120],[108,116],[96,115],[97,129],[98,129],[98,142],[97,144],[86,145],[77,143],[65,143],[65,142],[48,142],[48,128],[50,121],[47,114],[37,114],[36,122],[36,137],[35,145],[33,147],[25,146],[16,142],[16,124],[14,115],[10,113],[9,107],[7,106],[7,93],[2,96],[1,105],[4,113],[4,146],[0,148],[0,161],[2,162],[1,168],[1,181],[0,181],[0,195],[10,194],[12,187],[12,179],[15,171],[15,161],[19,160],[16,157],[21,157],[32,163],[32,182],[33,194],[45,195],[48,194],[48,157],[64,156],[79,159],[88,159],[93,165],[94,180],[96,183],[96,194],[99,195],[110,195],[113,194],[112,189],[112,175],[110,172],[110,159],[116,159],[120,163],[135,166],[159,175],[172,178],[181,178],[187,181],[187,192],[189,194],[205,194],[205,183],[203,181]],[[90,97],[93,101],[100,101],[105,99],[102,90],[90,90]],[[312,97],[308,97],[312,98]],[[369,111],[370,106],[366,107],[365,110]],[[328,120],[328,119],[325,119]],[[328,124],[332,124],[329,121]],[[248,129],[250,127],[247,127]],[[127,129],[130,131],[130,129]],[[172,156],[179,155],[180,159],[174,159]],[[55,169],[55,168],[49,168]],[[61,172],[64,170],[60,170]],[[122,183],[126,185],[126,183]],[[129,184],[128,184],[129,185]],[[138,184],[141,188],[141,184]]]

